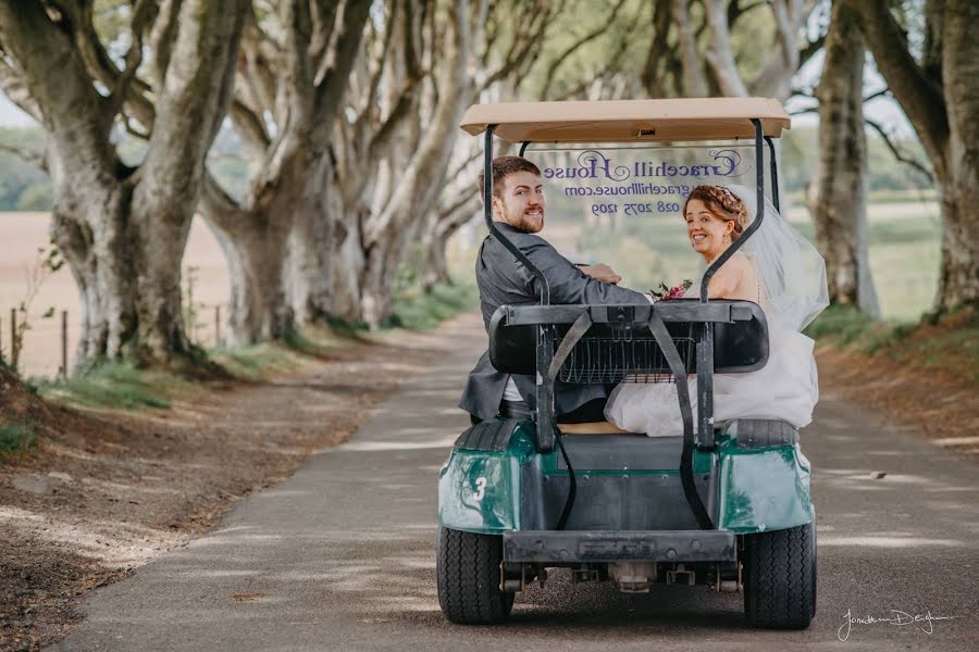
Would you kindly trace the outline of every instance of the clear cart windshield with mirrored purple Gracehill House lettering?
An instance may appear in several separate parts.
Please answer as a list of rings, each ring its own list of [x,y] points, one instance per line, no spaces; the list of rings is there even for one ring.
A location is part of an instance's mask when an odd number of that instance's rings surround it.
[[[691,248],[682,211],[698,185],[755,188],[753,141],[711,145],[566,146],[533,143],[541,168],[544,236],[575,263],[604,262],[636,290],[695,280],[703,259]],[[765,190],[771,197],[769,151]]]

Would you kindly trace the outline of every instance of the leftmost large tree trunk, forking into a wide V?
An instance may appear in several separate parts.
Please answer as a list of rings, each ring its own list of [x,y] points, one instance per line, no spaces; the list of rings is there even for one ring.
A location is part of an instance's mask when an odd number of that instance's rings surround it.
[[[41,3],[0,3],[4,53],[16,61],[50,138],[52,237],[82,294],[79,363],[120,354],[165,361],[188,351],[179,266],[203,159],[230,96],[244,4],[179,5],[179,26],[150,89],[152,104],[133,90],[146,86],[134,82],[145,13],[132,17],[135,45],[126,70],[110,62],[94,73],[87,60],[102,46],[89,5],[48,13]],[[116,155],[112,127],[134,102],[149,143],[144,162],[131,170]]]

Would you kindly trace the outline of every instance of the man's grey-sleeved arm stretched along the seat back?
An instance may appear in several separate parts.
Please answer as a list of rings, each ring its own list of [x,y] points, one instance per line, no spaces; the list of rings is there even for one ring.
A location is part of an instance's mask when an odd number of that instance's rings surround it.
[[[550,285],[550,302],[574,303],[646,303],[645,296],[627,288],[602,283],[583,273],[577,265],[562,256],[546,240],[538,236],[523,234],[520,249],[544,274]],[[541,297],[536,276],[520,265],[520,273],[529,294]]]

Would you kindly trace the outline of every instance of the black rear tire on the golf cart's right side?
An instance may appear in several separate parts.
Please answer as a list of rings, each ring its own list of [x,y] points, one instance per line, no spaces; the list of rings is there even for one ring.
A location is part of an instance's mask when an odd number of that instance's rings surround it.
[[[744,613],[755,627],[805,629],[816,615],[814,528],[745,535]]]

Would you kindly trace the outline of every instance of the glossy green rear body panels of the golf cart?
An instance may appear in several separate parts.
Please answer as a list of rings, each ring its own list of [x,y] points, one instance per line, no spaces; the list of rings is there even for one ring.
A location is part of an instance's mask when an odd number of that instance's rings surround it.
[[[648,440],[633,441],[642,446],[642,441]],[[493,450],[486,450],[491,447],[474,447],[464,441],[464,435],[460,437],[438,477],[439,525],[487,535],[553,527],[556,518],[548,517],[548,523],[542,524],[540,515],[533,516],[528,510],[529,504],[536,504],[535,501],[560,503],[550,505],[547,513],[552,515],[559,513],[563,506],[566,490],[552,489],[549,494],[540,491],[540,486],[567,482],[568,472],[563,467],[560,452],[536,452],[534,424],[530,421],[520,422],[513,427],[508,441],[496,443],[497,446],[492,447]],[[621,486],[630,480],[645,481],[647,485],[644,486],[652,487],[655,491],[660,486],[657,482],[679,482],[679,464],[678,454],[672,467],[579,468],[572,456],[579,486],[574,511],[582,507],[579,501],[582,500],[582,490],[588,487],[590,481],[593,485],[603,480],[616,481]],[[706,478],[710,476],[711,469],[715,481],[708,484]],[[723,435],[718,439],[714,451],[695,451],[694,471],[698,478],[705,478],[701,488],[702,496],[705,502],[716,505],[712,515],[718,529],[751,534],[786,529],[813,522],[809,461],[797,443],[744,448],[738,446],[735,437]],[[714,496],[708,497],[708,493]],[[635,494],[631,494],[630,499],[635,500]],[[656,502],[655,493],[650,493],[650,509]],[[615,505],[607,507],[616,509]],[[695,526],[690,529],[695,529]]]

